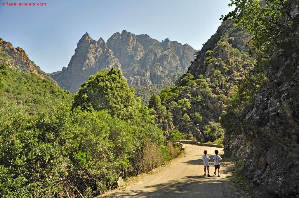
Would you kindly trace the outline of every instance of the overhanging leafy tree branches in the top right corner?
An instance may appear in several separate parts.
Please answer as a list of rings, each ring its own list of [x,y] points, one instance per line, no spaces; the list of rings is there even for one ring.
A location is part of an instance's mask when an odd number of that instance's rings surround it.
[[[231,0],[235,9],[220,19],[234,19],[253,34],[254,45],[271,54],[294,38],[299,24],[299,0]],[[288,47],[290,47],[288,45]]]

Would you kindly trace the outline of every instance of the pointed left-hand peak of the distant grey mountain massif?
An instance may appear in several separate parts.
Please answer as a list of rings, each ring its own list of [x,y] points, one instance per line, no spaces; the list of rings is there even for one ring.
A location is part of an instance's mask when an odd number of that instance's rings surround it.
[[[107,48],[105,41],[102,38],[95,41],[86,33],[79,40],[68,67],[63,67],[60,72],[54,72],[51,76],[62,89],[74,93],[90,75],[104,69],[110,70],[111,67],[121,69],[121,64]]]

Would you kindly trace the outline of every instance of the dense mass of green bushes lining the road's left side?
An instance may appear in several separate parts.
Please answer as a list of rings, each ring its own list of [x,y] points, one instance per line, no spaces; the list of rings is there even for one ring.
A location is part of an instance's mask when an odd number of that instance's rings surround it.
[[[86,87],[101,93],[83,86],[86,92],[79,91],[73,106],[61,103],[33,116],[16,101],[0,98],[1,196],[96,196],[114,188],[119,176],[149,171],[174,156],[149,109],[134,99],[133,90],[115,85],[122,79],[117,70],[110,74],[111,89],[104,89],[106,81],[92,82],[110,78],[109,72],[97,74]]]

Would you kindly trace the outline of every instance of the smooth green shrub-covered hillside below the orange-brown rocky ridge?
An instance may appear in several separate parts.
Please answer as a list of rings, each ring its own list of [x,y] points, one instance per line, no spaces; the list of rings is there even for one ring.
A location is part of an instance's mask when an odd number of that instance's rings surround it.
[[[73,100],[70,92],[34,73],[16,72],[5,64],[0,64],[0,95],[26,105],[30,114],[36,114],[39,109],[50,111],[60,102],[71,103]]]

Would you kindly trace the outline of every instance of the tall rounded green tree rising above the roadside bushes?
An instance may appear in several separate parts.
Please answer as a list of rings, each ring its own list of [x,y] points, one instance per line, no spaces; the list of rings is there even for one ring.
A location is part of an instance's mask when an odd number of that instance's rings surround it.
[[[97,72],[84,82],[79,92],[74,95],[73,109],[77,106],[81,110],[103,110],[113,116],[131,119],[136,113],[137,100],[134,99],[135,90],[130,89],[120,70],[112,69],[107,72]]]

